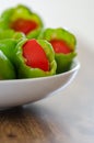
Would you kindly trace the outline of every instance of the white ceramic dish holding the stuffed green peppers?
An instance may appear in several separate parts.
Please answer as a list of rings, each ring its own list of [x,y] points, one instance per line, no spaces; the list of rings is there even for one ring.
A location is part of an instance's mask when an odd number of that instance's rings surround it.
[[[34,102],[52,95],[58,89],[63,89],[73,80],[79,68],[80,63],[77,61],[69,72],[56,76],[1,80],[0,109]]]

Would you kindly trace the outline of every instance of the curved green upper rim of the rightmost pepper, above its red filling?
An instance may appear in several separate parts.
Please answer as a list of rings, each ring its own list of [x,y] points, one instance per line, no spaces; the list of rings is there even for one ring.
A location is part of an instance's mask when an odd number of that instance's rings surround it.
[[[38,38],[45,38],[49,42],[51,40],[63,40],[73,51],[75,50],[77,45],[75,36],[62,28],[46,29],[39,34]]]

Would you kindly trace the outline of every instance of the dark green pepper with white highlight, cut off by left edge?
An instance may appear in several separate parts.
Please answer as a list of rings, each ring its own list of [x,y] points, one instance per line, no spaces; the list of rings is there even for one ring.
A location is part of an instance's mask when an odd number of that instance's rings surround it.
[[[15,72],[12,63],[0,50],[0,80],[14,79]]]

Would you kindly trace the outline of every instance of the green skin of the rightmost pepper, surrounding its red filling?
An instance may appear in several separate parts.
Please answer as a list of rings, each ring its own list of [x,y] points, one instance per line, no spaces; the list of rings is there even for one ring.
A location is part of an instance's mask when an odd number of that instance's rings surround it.
[[[73,58],[77,56],[75,45],[77,40],[72,33],[69,31],[58,28],[58,29],[46,29],[44,30],[38,38],[47,40],[51,43],[51,41],[62,41],[69,47],[69,53],[56,53],[55,58],[57,62],[57,74],[67,72],[70,69]]]

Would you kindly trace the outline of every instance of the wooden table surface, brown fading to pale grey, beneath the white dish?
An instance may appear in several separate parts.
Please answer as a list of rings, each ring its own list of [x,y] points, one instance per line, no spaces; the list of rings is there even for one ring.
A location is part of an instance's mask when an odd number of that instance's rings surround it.
[[[0,112],[0,143],[94,143],[94,53],[80,43],[81,69],[63,91]]]

